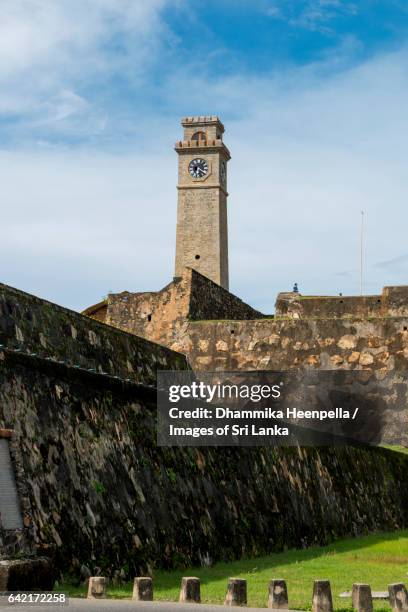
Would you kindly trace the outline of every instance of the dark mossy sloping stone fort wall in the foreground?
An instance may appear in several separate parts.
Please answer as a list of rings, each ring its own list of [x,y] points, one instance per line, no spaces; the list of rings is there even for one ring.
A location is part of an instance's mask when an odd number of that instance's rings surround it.
[[[134,574],[408,524],[408,458],[385,449],[157,447],[155,372],[183,356],[0,289],[0,428],[27,534],[59,567]]]

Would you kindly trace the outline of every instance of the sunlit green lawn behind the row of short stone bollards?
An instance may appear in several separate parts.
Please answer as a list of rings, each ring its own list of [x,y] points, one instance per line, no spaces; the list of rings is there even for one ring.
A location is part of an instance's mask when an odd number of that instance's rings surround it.
[[[311,609],[313,580],[329,579],[336,610],[351,610],[351,602],[340,599],[339,593],[350,590],[353,582],[371,585],[373,590],[387,590],[392,582],[408,583],[408,530],[395,533],[339,540],[329,546],[289,550],[267,557],[243,559],[233,563],[217,563],[208,568],[189,568],[173,572],[156,571],[153,576],[155,599],[178,599],[182,576],[201,579],[201,598],[205,603],[223,603],[228,578],[246,578],[248,605],[266,606],[268,582],[284,578],[288,586],[289,607]],[[71,596],[85,594],[84,587],[60,585],[57,590]],[[108,589],[111,597],[131,597],[132,585]],[[376,602],[376,611],[390,608]]]

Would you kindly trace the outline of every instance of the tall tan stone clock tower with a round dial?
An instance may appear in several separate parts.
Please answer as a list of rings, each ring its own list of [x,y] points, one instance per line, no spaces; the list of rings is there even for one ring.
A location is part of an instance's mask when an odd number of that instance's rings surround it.
[[[184,117],[178,153],[176,277],[188,266],[228,289],[227,162],[218,117]]]

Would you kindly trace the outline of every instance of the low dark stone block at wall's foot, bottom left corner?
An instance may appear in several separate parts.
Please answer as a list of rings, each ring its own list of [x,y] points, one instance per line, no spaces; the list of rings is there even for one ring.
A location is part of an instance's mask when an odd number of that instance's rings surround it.
[[[55,572],[51,559],[2,559],[0,560],[0,592],[52,591]]]

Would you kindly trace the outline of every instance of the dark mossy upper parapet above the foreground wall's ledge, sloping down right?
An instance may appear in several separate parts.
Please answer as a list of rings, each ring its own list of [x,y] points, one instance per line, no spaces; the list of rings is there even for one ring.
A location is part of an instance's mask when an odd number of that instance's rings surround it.
[[[158,369],[186,367],[183,355],[1,283],[0,344],[147,384]]]

